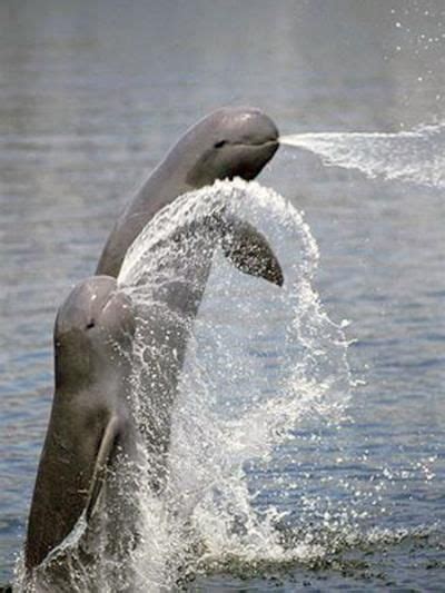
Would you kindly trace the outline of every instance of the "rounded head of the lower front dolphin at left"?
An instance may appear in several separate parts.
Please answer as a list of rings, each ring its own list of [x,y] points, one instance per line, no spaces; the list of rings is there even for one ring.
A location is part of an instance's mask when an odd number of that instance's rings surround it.
[[[135,334],[130,299],[116,278],[95,276],[77,285],[55,325],[56,386],[77,389],[128,362]]]

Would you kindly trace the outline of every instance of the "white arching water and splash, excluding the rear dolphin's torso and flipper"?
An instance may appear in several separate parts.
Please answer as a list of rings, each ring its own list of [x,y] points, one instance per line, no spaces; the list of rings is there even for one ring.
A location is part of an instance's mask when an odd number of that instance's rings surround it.
[[[273,500],[265,508],[256,507],[255,500],[268,484],[256,484],[254,492],[246,471],[248,464],[270,462],[305,423],[338,423],[348,403],[347,343],[312,286],[318,249],[301,215],[256,182],[216,182],[177,199],[145,228],[118,281],[144,312],[142,327],[154,307],[157,315],[165,315],[159,286],[171,281],[171,274],[176,287],[190,281],[190,258],[205,253],[199,251],[201,244],[194,244],[200,241],[199,233],[182,237],[180,244],[168,239],[222,208],[267,237],[283,266],[285,284],[278,288],[243,275],[221,253],[214,254],[204,303],[192,333],[187,334],[168,485],[161,497],[148,484],[141,484],[139,492],[144,536],[135,564],[141,589],[147,583],[171,587],[179,573],[184,576],[228,557],[283,562],[319,554],[317,545],[304,541],[285,550],[276,530],[283,513]],[[187,257],[187,265],[178,265],[178,257]],[[190,329],[171,310],[169,320],[171,315],[175,324]],[[147,348],[146,338],[145,327],[136,344],[139,426],[159,414],[159,402],[147,405],[147,350],[160,365],[170,356],[166,342],[162,352],[152,353],[155,343]],[[146,463],[149,473],[152,459],[148,456]]]

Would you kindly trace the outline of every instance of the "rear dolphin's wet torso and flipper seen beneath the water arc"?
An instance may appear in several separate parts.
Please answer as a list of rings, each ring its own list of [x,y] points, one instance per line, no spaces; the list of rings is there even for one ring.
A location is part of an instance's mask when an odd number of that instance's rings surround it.
[[[145,437],[155,492],[167,484],[172,407],[218,247],[240,271],[277,286],[284,283],[266,238],[250,224],[226,214],[195,220],[152,247],[149,296],[146,304],[137,305],[137,339],[144,350],[138,387],[144,413],[139,429]],[[142,275],[139,284],[144,286],[146,281]]]

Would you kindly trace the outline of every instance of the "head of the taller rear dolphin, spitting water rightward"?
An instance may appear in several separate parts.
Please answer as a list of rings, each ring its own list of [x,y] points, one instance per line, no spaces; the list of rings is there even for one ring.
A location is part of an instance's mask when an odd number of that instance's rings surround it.
[[[217,179],[254,179],[278,149],[278,129],[259,109],[225,107],[194,126],[171,154],[187,154],[194,188]]]

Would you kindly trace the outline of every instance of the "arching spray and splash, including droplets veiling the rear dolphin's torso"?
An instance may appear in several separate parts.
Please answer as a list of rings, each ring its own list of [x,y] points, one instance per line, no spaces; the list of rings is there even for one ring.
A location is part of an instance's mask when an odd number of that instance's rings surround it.
[[[283,287],[241,274],[222,256],[206,230],[221,213],[267,237]],[[288,511],[270,480],[277,458],[295,456],[296,431],[338,426],[349,399],[343,325],[328,318],[313,286],[318,257],[301,215],[241,180],[180,197],[136,239],[118,284],[138,310],[131,408],[140,451],[131,480],[119,481],[123,500],[137,503],[136,525],[128,516],[137,534],[125,563],[103,547],[98,565],[83,566],[76,552],[81,517],[52,554],[69,560],[67,591],[170,591],[218,566],[323,556],[314,538],[284,542]],[[176,296],[200,298],[202,286],[199,314],[191,307],[181,315]],[[167,455],[152,438],[162,432]],[[279,488],[294,486],[281,481]]]

